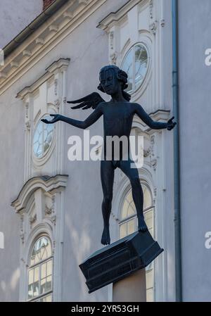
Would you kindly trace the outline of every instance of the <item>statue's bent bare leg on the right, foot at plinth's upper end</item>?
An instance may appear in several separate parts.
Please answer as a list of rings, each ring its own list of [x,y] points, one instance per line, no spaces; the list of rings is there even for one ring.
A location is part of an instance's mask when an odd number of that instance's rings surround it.
[[[143,217],[143,190],[139,180],[139,172],[136,168],[131,168],[131,163],[134,162],[132,160],[120,161],[120,169],[127,175],[132,186],[132,196],[136,206],[139,231],[146,232],[148,228]]]

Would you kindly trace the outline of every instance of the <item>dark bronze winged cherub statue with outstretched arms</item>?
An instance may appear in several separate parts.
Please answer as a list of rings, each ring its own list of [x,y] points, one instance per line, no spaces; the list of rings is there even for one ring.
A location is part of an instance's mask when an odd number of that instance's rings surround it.
[[[78,106],[72,108],[94,108],[94,112],[91,113],[86,120],[73,120],[63,115],[51,114],[51,116],[53,116],[51,121],[45,119],[42,121],[46,124],[63,121],[75,127],[86,129],[103,115],[104,142],[107,136],[126,136],[128,143],[135,114],[152,129],[167,128],[171,130],[176,125],[176,123],[173,122],[174,118],[171,118],[167,123],[155,122],[138,103],[129,102],[130,96],[124,91],[124,89],[127,89],[127,73],[120,70],[117,66],[108,65],[103,67],[99,77],[100,84],[98,89],[111,96],[112,99],[109,102],[104,101],[96,92],[79,100],[68,101],[68,103],[80,103]],[[104,150],[104,155],[106,155],[106,150]],[[104,158],[105,157],[106,156],[104,156]],[[136,168],[131,168],[131,163],[133,163],[133,161],[130,158],[123,160],[121,155],[119,160],[115,160],[114,157],[112,160],[101,160],[101,183],[103,188],[102,212],[104,223],[101,244],[103,245],[110,244],[109,218],[113,199],[114,172],[116,168],[120,168],[122,172],[127,175],[132,185],[132,196],[136,206],[139,231],[146,232],[148,230],[143,217],[143,191],[139,180],[139,172]]]

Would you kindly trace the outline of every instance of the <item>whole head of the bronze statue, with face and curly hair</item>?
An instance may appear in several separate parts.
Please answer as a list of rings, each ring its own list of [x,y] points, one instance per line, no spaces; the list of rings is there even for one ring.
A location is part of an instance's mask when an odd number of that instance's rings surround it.
[[[99,79],[98,89],[100,91],[113,95],[121,89],[124,99],[130,100],[131,96],[124,91],[128,87],[126,72],[115,65],[107,65],[101,69]]]

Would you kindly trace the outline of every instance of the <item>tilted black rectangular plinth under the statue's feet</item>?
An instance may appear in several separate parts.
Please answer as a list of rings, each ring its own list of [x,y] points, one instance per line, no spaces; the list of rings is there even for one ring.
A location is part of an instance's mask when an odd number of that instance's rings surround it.
[[[79,267],[91,293],[147,267],[162,251],[149,232],[135,232],[96,251]]]

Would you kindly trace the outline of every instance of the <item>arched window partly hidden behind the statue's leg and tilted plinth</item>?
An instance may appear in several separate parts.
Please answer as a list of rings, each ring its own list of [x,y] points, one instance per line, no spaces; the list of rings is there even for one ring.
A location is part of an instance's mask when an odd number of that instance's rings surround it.
[[[154,207],[150,189],[146,184],[141,184],[143,189],[143,214],[146,220],[148,230],[154,238]],[[124,197],[120,215],[120,239],[136,232],[138,221],[136,217],[136,208],[132,198],[132,190],[129,190]],[[153,263],[146,267],[146,301],[154,301],[154,269]]]

